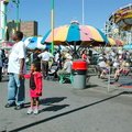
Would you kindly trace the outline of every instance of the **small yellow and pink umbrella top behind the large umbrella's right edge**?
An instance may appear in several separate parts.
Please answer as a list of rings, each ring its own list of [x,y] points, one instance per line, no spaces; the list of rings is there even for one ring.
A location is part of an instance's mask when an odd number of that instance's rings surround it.
[[[119,46],[123,46],[125,45],[125,43],[122,41],[122,40],[119,40],[119,38],[111,38],[111,37],[108,37],[109,40],[109,44],[110,45],[119,45]]]

